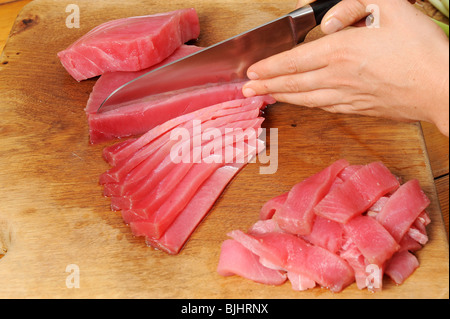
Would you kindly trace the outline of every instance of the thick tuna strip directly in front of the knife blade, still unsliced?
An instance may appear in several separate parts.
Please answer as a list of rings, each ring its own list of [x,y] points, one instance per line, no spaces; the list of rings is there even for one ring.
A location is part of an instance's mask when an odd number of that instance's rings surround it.
[[[231,100],[242,99],[244,82],[207,84],[133,101],[117,109],[89,114],[92,144],[141,135],[180,115]]]

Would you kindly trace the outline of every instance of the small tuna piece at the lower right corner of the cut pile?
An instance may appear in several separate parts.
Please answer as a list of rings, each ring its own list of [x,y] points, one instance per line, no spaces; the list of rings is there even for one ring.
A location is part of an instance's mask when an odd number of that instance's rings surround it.
[[[409,251],[403,250],[396,253],[386,267],[385,273],[397,284],[401,285],[413,272],[419,268],[417,257]]]

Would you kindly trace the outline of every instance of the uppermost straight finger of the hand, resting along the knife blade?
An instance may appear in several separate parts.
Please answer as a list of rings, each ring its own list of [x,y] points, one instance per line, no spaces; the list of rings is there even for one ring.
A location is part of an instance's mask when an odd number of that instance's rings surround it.
[[[250,80],[261,80],[321,69],[328,65],[330,51],[330,41],[318,39],[304,43],[253,64],[247,76]]]

